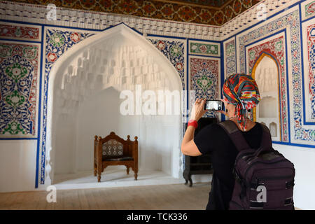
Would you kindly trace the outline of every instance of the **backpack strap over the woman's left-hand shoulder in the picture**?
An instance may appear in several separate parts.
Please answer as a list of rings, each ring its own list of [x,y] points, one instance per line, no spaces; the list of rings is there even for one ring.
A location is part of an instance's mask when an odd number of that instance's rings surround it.
[[[223,127],[233,144],[235,144],[235,147],[238,151],[251,148],[248,145],[246,139],[243,137],[243,134],[241,134],[241,131],[239,130],[237,125],[232,122],[232,120],[225,120],[221,123],[218,123],[218,125],[221,125],[221,127]]]

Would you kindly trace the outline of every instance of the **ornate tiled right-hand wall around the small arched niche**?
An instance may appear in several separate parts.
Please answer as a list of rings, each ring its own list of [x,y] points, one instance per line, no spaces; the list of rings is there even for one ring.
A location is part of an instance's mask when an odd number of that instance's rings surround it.
[[[290,7],[269,20],[262,21],[257,26],[223,41],[225,76],[234,72],[229,65],[233,59],[237,60],[237,72],[251,74],[251,69],[262,52],[267,52],[276,58],[281,75],[279,79],[283,134],[281,141],[290,144],[314,145],[315,143],[314,120],[311,120],[314,113],[314,87],[312,87],[314,73],[311,51],[314,43],[314,38],[311,36],[311,25],[314,24],[314,2],[303,1],[301,13],[299,5]],[[302,34],[301,26],[304,27]],[[272,38],[280,33],[283,34],[280,39]],[[236,39],[236,55],[228,48],[231,45],[232,49],[233,38]],[[306,50],[306,46],[310,50]],[[304,69],[302,62],[304,62]]]

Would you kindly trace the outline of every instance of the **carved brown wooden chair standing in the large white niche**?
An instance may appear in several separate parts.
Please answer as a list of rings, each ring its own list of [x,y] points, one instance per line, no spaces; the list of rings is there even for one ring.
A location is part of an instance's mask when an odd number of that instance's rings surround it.
[[[124,140],[115,132],[111,132],[104,139],[95,136],[94,139],[94,176],[101,182],[101,174],[108,166],[125,165],[127,174],[130,167],[134,171],[134,179],[138,177],[138,137],[130,141],[130,135]]]

